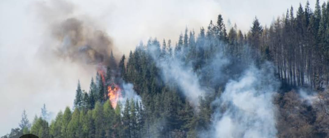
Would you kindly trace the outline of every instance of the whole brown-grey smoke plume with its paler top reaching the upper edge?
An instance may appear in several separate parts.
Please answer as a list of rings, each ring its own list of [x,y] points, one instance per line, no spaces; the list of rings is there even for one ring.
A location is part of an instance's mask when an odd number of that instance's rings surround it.
[[[87,16],[75,15],[74,5],[64,1],[36,4],[40,17],[46,24],[50,41],[44,41],[45,51],[57,57],[81,64],[110,64],[110,54],[119,57],[113,40],[99,23]],[[61,6],[61,7],[59,7]],[[62,10],[64,6],[64,12]],[[66,12],[65,12],[66,11]],[[49,18],[51,15],[51,18]],[[49,53],[47,53],[49,54]],[[51,53],[50,53],[51,54]]]

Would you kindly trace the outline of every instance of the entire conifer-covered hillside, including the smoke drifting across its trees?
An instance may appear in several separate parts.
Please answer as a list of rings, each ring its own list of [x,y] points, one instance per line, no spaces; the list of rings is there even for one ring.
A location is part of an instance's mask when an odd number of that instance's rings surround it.
[[[154,38],[121,59],[111,54],[87,91],[78,82],[74,108],[47,122],[44,107],[31,124],[24,111],[2,138],[329,137],[329,3],[291,7],[269,27],[255,17],[245,33],[236,25],[226,30],[223,20],[219,14],[199,34],[186,28],[178,42]],[[126,83],[141,98],[122,99]],[[257,107],[266,114],[234,105],[232,93],[250,94],[237,100],[265,104]],[[227,130],[225,117],[247,121]],[[262,129],[251,135],[243,128]]]

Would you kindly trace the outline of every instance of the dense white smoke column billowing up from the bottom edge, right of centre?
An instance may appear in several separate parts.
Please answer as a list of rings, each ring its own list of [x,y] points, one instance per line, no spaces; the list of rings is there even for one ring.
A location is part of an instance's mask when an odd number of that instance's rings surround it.
[[[203,136],[216,138],[274,138],[275,106],[272,97],[279,88],[270,64],[250,67],[239,80],[230,80],[212,104],[213,129]]]

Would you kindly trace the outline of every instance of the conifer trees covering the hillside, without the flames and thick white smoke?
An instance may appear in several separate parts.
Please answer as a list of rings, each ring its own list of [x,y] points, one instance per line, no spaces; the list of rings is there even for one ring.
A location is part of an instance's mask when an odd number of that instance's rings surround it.
[[[294,16],[291,7],[269,27],[263,27],[255,17],[248,32],[243,33],[235,26],[229,28],[228,34],[219,14],[215,24],[210,21],[206,29],[200,28],[199,34],[186,28],[176,44],[163,40],[161,48],[157,39],[149,39],[146,45],[140,43],[130,51],[126,63],[123,55],[117,64],[111,52],[106,61],[110,66],[105,82],[97,73],[95,81],[91,78],[87,93],[78,81],[73,113],[66,107],[49,126],[45,117],[36,117],[30,127],[24,110],[19,128],[12,129],[4,137],[29,132],[42,138],[199,137],[199,132],[211,129],[211,115],[216,108],[211,103],[220,96],[225,86],[223,82],[238,77],[244,65],[259,66],[266,61],[273,62],[283,91],[298,86],[323,90],[329,83],[329,4],[323,3],[320,7],[316,0],[313,12],[307,2],[304,8],[299,5],[296,13]],[[199,105],[195,105],[193,102],[197,101],[189,101],[178,86],[164,82],[161,69],[149,55],[151,46],[155,47],[156,59],[180,60],[191,66],[200,85],[208,88],[211,94],[200,97]],[[227,56],[231,65],[222,70],[205,69],[214,64],[212,59],[218,53]],[[213,78],[218,72],[223,72],[221,78]],[[126,99],[112,107],[106,83],[123,81],[134,85],[141,101]],[[278,137],[328,136],[327,129],[320,129],[328,126],[327,114],[320,110],[325,109],[327,103],[313,109],[295,101],[294,97],[293,92],[278,96]],[[225,108],[219,110],[225,111]],[[46,113],[45,107],[44,111]]]

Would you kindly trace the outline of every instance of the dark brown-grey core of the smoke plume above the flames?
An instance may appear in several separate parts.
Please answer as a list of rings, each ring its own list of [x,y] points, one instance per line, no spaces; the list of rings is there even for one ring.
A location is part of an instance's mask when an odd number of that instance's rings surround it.
[[[104,32],[93,30],[77,18],[68,18],[53,28],[53,36],[62,42],[57,55],[88,64],[109,63],[112,40]]]

